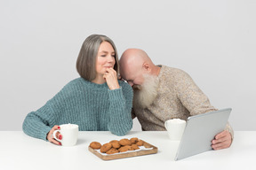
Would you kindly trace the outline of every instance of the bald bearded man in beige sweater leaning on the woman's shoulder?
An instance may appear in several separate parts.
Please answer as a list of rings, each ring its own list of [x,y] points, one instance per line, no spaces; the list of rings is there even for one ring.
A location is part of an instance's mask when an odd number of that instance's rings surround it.
[[[132,116],[142,130],[165,130],[164,121],[215,111],[208,97],[188,73],[168,66],[156,66],[144,50],[125,50],[120,58],[120,75],[134,91]],[[226,130],[212,140],[212,149],[228,148],[233,130]]]

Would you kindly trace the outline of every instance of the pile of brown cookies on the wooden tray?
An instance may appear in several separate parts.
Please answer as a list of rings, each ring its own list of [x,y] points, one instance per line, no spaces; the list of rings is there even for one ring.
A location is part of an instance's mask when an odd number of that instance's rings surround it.
[[[90,143],[90,147],[94,150],[100,150],[101,153],[114,154],[118,152],[124,151],[135,151],[139,150],[143,145],[143,141],[138,139],[137,137],[132,137],[129,139],[121,139],[120,141],[113,140],[109,143],[104,143],[101,145],[98,142]]]

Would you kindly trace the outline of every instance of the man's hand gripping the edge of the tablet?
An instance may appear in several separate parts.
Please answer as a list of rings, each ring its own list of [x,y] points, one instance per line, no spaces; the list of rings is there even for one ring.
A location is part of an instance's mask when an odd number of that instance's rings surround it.
[[[215,135],[215,138],[212,140],[212,149],[221,150],[228,148],[232,143],[231,134],[224,130],[220,134]]]

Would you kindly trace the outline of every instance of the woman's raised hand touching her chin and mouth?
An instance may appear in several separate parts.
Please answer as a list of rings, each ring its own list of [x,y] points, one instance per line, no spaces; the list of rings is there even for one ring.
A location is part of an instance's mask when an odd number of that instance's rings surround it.
[[[106,73],[104,73],[103,78],[107,81],[109,89],[119,89],[119,83],[117,81],[116,70],[113,68],[107,68]]]

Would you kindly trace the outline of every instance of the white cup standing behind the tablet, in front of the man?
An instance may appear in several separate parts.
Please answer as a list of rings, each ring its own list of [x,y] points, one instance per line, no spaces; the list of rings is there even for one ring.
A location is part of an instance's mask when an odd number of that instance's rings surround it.
[[[172,141],[180,141],[186,127],[186,121],[180,119],[166,120],[164,126]]]

